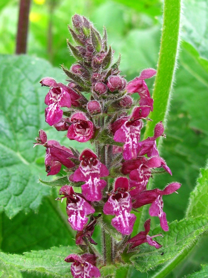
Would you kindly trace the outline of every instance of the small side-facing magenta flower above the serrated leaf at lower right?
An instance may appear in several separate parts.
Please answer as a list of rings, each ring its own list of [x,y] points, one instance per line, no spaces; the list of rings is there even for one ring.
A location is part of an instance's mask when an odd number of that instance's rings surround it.
[[[150,246],[154,246],[157,249],[161,248],[162,245],[160,245],[157,241],[153,240],[153,238],[158,237],[158,236],[162,236],[162,235],[161,234],[156,234],[152,237],[150,237],[148,235],[148,233],[150,231],[150,219],[145,221],[144,228],[145,228],[145,231],[139,232],[139,234],[137,234],[136,236],[134,236],[133,238],[131,238],[127,241],[127,243],[130,244],[129,249],[132,249],[136,246],[139,246],[139,245],[141,245],[142,243],[145,243],[145,242],[147,242]]]

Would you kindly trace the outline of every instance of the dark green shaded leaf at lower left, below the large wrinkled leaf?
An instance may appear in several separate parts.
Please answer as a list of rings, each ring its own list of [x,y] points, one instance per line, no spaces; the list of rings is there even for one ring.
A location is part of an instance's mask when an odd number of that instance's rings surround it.
[[[60,244],[75,245],[75,232],[67,222],[66,202],[55,201],[57,196],[58,193],[53,198],[44,198],[38,213],[21,212],[12,220],[3,213],[1,250],[22,253]]]

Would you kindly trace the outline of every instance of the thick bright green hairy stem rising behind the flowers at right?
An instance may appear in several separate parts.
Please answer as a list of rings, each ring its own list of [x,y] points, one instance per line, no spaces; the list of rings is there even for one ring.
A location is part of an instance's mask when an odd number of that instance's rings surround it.
[[[154,111],[149,114],[150,119],[153,121],[147,123],[144,138],[153,135],[154,126],[158,122],[163,121],[166,124],[174,74],[177,67],[180,11],[180,0],[164,1],[161,46],[153,90]],[[161,145],[161,139],[158,140],[157,144],[158,147]]]

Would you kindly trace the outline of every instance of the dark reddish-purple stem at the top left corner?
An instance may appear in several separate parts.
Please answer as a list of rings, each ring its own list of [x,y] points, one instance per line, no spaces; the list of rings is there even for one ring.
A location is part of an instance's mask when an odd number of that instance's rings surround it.
[[[30,2],[31,0],[20,0],[16,54],[26,53]]]

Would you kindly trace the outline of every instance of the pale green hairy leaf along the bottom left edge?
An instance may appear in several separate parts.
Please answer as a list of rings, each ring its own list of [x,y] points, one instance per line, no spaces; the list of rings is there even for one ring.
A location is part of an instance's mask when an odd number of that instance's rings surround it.
[[[18,267],[22,271],[53,274],[54,277],[72,277],[70,264],[64,259],[70,253],[79,253],[78,247],[60,246],[48,250],[39,250],[12,255],[0,252],[0,259],[8,266]]]

